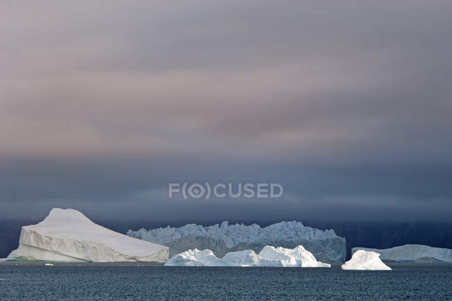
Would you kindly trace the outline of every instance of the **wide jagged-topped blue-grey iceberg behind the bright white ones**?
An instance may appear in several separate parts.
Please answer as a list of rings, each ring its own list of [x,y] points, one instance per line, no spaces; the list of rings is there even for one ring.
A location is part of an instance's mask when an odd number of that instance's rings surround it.
[[[170,257],[191,249],[209,249],[218,257],[227,252],[253,250],[259,252],[265,245],[293,248],[303,245],[314,256],[327,262],[345,261],[346,241],[334,230],[306,227],[301,222],[278,222],[268,227],[259,225],[221,225],[203,227],[189,224],[179,228],[140,229],[127,235],[170,247]]]

